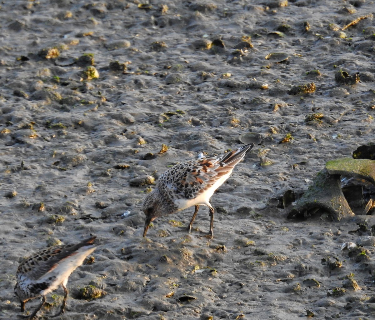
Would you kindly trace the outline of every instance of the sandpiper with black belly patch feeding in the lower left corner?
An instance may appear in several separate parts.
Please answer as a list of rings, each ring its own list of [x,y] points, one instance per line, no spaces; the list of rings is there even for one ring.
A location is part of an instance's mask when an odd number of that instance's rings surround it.
[[[42,249],[21,261],[16,273],[17,284],[14,287],[14,293],[20,298],[21,312],[25,309],[26,301],[42,296],[40,305],[27,317],[28,319],[32,319],[42,308],[46,301],[46,294],[57,289],[60,284],[65,296],[60,312],[56,316],[64,313],[69,292],[66,288],[69,275],[83,263],[87,255],[95,250],[95,238],[91,237],[73,245]]]

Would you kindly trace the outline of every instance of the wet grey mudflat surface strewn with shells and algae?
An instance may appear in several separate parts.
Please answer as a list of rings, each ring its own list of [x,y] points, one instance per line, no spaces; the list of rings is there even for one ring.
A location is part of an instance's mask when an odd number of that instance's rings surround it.
[[[373,319],[375,242],[359,224],[374,218],[288,220],[277,199],[375,142],[374,2],[138,4],[1,3],[0,318],[20,313],[21,258],[94,234],[60,319]],[[193,208],[142,238],[142,176],[246,133],[260,144],[211,198],[214,239],[204,207],[191,234]],[[87,285],[107,294],[77,299]]]

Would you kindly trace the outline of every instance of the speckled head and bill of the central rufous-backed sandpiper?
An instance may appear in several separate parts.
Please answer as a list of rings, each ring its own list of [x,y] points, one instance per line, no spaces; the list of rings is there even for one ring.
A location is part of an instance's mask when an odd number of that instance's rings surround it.
[[[151,221],[153,221],[157,217],[173,213],[173,211],[171,211],[169,203],[166,201],[162,201],[159,189],[157,188],[146,196],[142,204],[142,210],[146,215],[146,221],[143,230],[144,237],[146,236],[148,226],[150,225]]]

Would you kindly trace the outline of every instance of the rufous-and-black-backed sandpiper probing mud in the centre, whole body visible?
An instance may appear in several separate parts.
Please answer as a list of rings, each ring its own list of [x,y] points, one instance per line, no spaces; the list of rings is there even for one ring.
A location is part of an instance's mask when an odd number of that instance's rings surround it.
[[[188,227],[190,232],[199,205],[202,204],[210,210],[208,235],[212,238],[214,209],[210,198],[252,147],[254,143],[223,155],[181,162],[166,170],[157,180],[156,188],[143,201],[142,210],[146,215],[143,236],[146,236],[148,226],[155,218],[195,206]]]

